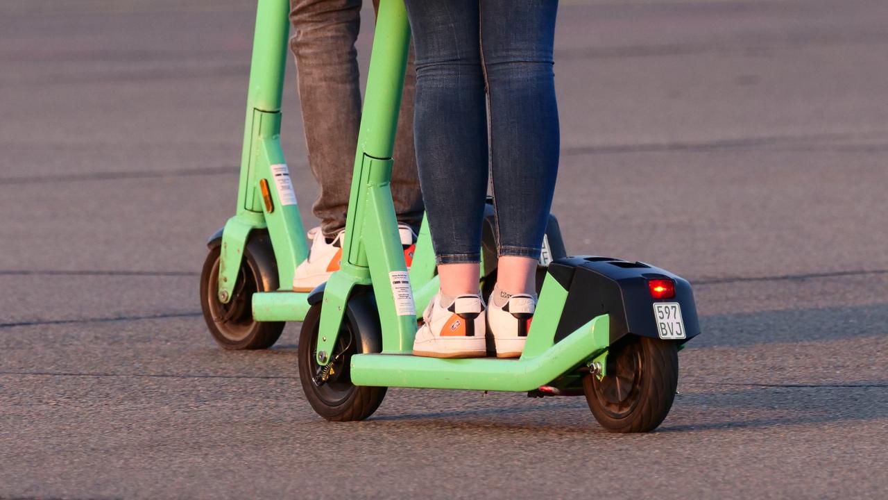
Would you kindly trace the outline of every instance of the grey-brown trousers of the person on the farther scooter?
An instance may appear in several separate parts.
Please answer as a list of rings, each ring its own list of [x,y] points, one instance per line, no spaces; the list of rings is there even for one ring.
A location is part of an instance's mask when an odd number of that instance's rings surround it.
[[[321,219],[324,235],[333,236],[345,228],[361,124],[361,88],[354,48],[361,27],[361,0],[290,0],[289,19],[295,28],[289,44],[296,57],[308,164],[321,187],[312,209]],[[395,139],[392,198],[399,222],[418,227],[423,217],[423,197],[413,144],[415,94],[411,46]]]

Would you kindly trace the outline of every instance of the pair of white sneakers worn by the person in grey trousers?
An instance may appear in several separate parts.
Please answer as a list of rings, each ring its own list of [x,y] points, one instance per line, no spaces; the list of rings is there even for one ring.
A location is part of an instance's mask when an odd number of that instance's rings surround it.
[[[407,267],[410,267],[410,264],[413,263],[416,234],[407,224],[398,224],[398,232],[400,244],[405,246],[404,258],[407,260]],[[311,292],[315,287],[326,282],[333,271],[339,270],[344,234],[345,230],[341,230],[328,242],[320,227],[308,231],[308,239],[312,242],[312,247],[308,251],[308,258],[300,263],[296,272],[293,273],[294,292]]]

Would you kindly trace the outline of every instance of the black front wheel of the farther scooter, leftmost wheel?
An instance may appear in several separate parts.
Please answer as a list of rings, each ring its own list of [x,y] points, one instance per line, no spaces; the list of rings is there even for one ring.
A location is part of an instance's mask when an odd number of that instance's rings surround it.
[[[244,248],[241,269],[228,303],[218,300],[220,246],[210,246],[201,272],[201,309],[213,339],[223,349],[238,351],[267,349],[277,342],[284,322],[253,319],[252,295],[277,289],[274,253],[265,238],[251,240]]]

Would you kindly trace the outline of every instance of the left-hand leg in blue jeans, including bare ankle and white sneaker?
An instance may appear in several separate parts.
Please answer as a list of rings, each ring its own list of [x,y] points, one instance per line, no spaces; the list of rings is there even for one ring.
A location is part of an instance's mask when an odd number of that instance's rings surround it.
[[[488,134],[478,0],[406,4],[416,47],[416,158],[441,286],[413,352],[484,356],[478,278]]]

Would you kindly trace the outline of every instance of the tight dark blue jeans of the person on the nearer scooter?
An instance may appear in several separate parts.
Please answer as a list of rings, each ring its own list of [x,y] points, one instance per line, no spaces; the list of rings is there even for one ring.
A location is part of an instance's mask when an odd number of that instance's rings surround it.
[[[539,258],[559,162],[558,1],[405,3],[416,159],[438,262],[480,261],[488,173],[499,254]]]

